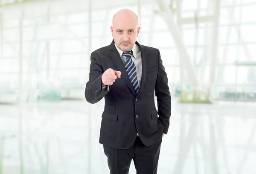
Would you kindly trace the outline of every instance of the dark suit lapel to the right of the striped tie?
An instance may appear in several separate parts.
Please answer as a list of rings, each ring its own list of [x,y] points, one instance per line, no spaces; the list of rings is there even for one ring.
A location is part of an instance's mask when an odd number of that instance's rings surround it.
[[[140,80],[140,89],[139,92],[136,95],[136,98],[140,96],[141,92],[143,91],[143,86],[145,84],[145,79],[147,75],[148,70],[148,52],[144,49],[144,46],[141,46],[137,41],[136,44],[140,47],[140,53],[141,53],[141,64],[142,64],[142,75]]]

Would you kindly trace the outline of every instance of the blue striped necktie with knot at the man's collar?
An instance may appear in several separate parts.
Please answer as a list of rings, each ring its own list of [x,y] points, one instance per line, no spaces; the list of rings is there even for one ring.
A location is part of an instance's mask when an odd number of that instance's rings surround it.
[[[125,69],[131,80],[131,84],[134,87],[135,94],[139,91],[139,81],[137,77],[136,67],[134,62],[131,60],[132,51],[123,52],[125,59]]]

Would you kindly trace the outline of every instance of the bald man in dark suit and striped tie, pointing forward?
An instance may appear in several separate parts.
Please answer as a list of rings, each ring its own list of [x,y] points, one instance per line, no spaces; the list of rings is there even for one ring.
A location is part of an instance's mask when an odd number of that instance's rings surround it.
[[[111,174],[128,174],[132,159],[137,174],[156,174],[162,137],[171,116],[160,52],[136,41],[140,27],[131,10],[116,12],[111,32],[112,43],[91,54],[85,88],[87,102],[94,104],[105,98],[99,143]]]

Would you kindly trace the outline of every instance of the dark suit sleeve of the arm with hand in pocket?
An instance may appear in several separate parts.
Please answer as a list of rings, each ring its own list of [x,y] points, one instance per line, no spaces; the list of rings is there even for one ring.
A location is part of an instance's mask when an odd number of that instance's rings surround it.
[[[167,134],[171,117],[171,94],[168,86],[167,74],[164,70],[163,61],[158,51],[158,74],[155,86],[155,95],[157,96],[157,108],[159,121],[163,126],[163,133]]]

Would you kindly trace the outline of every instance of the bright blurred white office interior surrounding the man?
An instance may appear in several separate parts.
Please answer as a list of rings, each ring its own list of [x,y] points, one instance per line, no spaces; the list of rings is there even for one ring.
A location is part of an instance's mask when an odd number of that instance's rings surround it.
[[[108,174],[84,98],[113,14],[160,50],[172,116],[159,174],[255,174],[256,0],[0,0],[0,174]],[[133,162],[130,174],[135,174]]]

